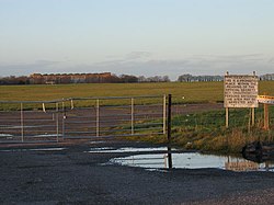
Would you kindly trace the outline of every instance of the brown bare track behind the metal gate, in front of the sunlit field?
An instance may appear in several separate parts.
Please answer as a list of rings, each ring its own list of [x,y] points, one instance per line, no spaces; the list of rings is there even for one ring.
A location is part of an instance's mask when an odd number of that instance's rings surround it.
[[[172,106],[172,114],[190,114],[221,107],[222,104],[180,104]],[[43,111],[0,112],[0,146],[1,143],[20,143],[21,140],[56,141],[57,130],[58,135],[65,136],[64,139],[118,135],[121,132],[123,135],[132,134],[130,128],[123,128],[123,130],[118,128],[132,124],[130,106],[101,107],[99,116],[100,119],[96,118],[94,107],[60,111],[58,115],[53,111],[46,113]],[[134,109],[134,133],[140,134],[139,130],[151,127],[155,127],[153,133],[162,133],[162,105],[136,105]],[[156,119],[160,122],[158,125],[147,127],[149,122]],[[98,128],[99,126],[100,128]],[[60,140],[62,140],[61,137]]]

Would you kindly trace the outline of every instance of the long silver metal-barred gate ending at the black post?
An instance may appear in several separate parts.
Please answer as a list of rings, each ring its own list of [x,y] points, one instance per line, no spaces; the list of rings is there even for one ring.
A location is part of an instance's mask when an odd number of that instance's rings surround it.
[[[0,101],[0,143],[165,134],[165,95]]]

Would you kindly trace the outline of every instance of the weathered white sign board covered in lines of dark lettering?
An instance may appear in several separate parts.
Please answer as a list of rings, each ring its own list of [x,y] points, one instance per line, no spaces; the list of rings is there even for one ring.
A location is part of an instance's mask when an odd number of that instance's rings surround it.
[[[225,107],[258,107],[256,76],[225,76]]]

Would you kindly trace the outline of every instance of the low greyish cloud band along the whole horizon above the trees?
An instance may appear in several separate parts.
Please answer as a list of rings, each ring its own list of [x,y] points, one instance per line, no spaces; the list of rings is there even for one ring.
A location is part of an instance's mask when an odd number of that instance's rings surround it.
[[[169,76],[176,80],[180,75],[224,75],[273,72],[274,58],[263,54],[247,55],[189,55],[179,59],[157,59],[151,53],[133,52],[124,57],[115,57],[100,62],[73,64],[71,61],[36,60],[32,64],[0,64],[1,76],[22,76],[33,72],[113,72],[135,76]]]

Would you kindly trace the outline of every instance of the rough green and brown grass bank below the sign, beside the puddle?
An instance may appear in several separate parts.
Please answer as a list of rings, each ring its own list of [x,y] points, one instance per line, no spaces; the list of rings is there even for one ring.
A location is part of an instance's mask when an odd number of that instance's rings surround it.
[[[274,143],[274,106],[270,106],[271,129],[264,130],[263,109],[256,109],[251,126],[250,110],[231,110],[230,126],[225,127],[225,111],[212,111],[172,117],[172,145],[217,153],[239,153],[254,140]],[[168,143],[167,136],[139,137],[138,140]]]

